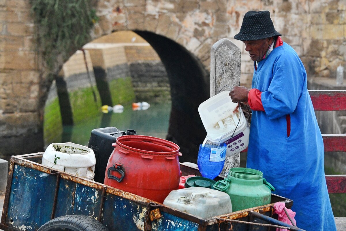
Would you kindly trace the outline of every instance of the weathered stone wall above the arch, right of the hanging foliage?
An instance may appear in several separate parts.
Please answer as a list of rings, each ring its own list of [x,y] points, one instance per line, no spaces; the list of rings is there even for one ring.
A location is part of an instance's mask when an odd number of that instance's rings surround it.
[[[310,78],[335,77],[345,65],[345,0],[99,1],[99,35],[112,30],[148,30],[167,36],[196,55],[209,70],[210,48],[227,37],[242,50],[241,83],[251,85],[253,63],[233,39],[248,10],[269,10],[274,26],[300,55]],[[106,14],[106,12],[110,12]]]

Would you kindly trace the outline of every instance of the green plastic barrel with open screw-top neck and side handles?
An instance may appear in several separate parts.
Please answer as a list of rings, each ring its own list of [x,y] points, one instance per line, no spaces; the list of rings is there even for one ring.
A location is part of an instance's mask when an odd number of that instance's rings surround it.
[[[270,204],[271,191],[275,191],[263,178],[263,173],[252,168],[231,168],[227,178],[213,187],[229,195],[233,212]]]

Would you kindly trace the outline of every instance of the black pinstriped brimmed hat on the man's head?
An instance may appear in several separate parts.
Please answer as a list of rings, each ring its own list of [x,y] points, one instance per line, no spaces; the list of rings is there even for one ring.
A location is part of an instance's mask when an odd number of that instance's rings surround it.
[[[269,11],[248,11],[244,15],[243,24],[240,27],[239,33],[234,38],[249,41],[277,35],[281,36],[274,28]]]

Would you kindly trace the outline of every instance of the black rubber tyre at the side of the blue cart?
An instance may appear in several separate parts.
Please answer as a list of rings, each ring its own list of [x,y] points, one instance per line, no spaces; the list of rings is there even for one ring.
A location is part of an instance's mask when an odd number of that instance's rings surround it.
[[[108,231],[97,220],[84,215],[66,215],[48,221],[37,231]]]

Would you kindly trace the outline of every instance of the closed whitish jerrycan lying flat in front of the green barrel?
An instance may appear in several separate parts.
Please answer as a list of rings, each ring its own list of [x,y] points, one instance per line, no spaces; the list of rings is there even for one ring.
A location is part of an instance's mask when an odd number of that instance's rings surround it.
[[[173,190],[163,204],[203,219],[232,212],[227,193],[203,187]]]

